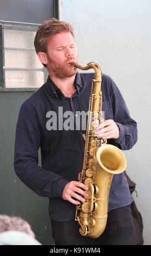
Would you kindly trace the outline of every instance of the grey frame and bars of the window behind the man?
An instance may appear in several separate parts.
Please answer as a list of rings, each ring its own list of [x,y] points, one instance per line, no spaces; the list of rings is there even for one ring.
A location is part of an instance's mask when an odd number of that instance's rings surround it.
[[[40,24],[34,23],[24,23],[24,22],[9,22],[9,21],[0,21],[0,92],[35,92],[40,87],[24,87],[24,88],[6,88],[5,87],[5,70],[13,70],[13,68],[6,69],[5,68],[5,45],[4,45],[4,29],[14,29],[21,31],[37,31],[38,26]],[[23,50],[23,49],[22,49]],[[28,49],[25,49],[28,51]],[[31,49],[29,49],[31,51]],[[33,51],[35,51],[33,49]],[[35,68],[35,69],[25,69],[25,68],[16,68],[15,70],[20,71],[43,71],[44,73],[44,81],[48,77],[47,69],[44,68]]]

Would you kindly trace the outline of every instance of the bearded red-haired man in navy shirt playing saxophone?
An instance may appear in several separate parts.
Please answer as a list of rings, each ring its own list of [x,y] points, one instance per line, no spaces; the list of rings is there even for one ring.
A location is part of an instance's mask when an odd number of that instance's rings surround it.
[[[79,73],[71,65],[77,62],[78,54],[69,23],[56,19],[44,22],[38,28],[34,44],[49,76],[47,82],[23,102],[19,111],[16,174],[32,191],[49,198],[56,245],[135,245],[130,210],[133,198],[123,173],[114,175],[111,183],[108,220],[103,234],[94,239],[79,233],[79,225],[74,220],[75,207],[86,202],[89,187],[78,181],[83,167],[86,129],[81,125],[76,129],[76,118],[77,113],[88,111],[94,74]],[[116,84],[104,74],[101,89],[106,120],[97,126],[97,136],[108,139],[108,144],[121,150],[131,149],[137,141],[136,122],[130,117]],[[69,113],[73,113],[72,127],[68,126]],[[54,127],[51,117],[57,120]],[[42,167],[38,166],[40,148]]]

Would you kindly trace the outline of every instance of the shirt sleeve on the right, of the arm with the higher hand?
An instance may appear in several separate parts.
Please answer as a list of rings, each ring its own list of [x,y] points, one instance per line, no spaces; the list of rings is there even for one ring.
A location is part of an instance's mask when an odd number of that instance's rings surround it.
[[[137,141],[137,123],[130,117],[126,103],[110,78],[110,95],[113,106],[114,121],[119,126],[120,136],[114,142],[122,150],[131,149]]]

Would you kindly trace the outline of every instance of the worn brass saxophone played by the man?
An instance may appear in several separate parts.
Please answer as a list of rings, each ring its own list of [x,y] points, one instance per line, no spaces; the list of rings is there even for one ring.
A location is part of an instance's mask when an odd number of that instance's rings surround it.
[[[114,174],[126,169],[127,161],[122,151],[114,145],[107,144],[106,139],[97,137],[97,125],[102,118],[102,70],[100,65],[90,62],[83,67],[71,63],[74,69],[94,69],[89,100],[86,143],[82,172],[78,180],[89,187],[86,202],[76,205],[75,221],[80,224],[82,236],[99,237],[106,228],[108,217],[108,199],[111,180]]]

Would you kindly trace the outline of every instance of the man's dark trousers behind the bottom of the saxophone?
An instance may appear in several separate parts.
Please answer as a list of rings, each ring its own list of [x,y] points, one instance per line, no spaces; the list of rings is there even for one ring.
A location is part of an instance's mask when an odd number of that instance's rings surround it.
[[[51,221],[55,245],[136,245],[130,205],[108,212],[106,229],[96,239],[80,235],[77,221]]]

